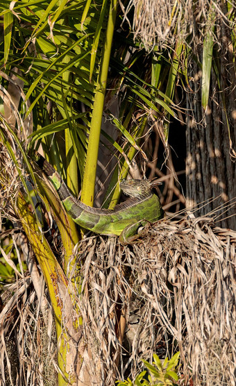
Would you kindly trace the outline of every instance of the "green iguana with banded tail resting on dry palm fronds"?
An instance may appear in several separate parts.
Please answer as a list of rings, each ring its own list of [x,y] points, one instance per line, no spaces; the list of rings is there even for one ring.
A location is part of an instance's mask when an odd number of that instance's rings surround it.
[[[154,222],[164,215],[158,196],[151,192],[149,180],[121,181],[121,190],[130,196],[113,210],[96,209],[85,205],[71,195],[58,172],[42,156],[37,165],[56,188],[65,210],[79,226],[101,235],[121,235],[121,242],[129,242],[140,226]]]

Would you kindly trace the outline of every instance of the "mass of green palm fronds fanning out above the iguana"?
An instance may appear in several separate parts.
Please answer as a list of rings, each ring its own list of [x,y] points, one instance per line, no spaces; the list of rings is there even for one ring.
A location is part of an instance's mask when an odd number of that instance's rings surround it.
[[[36,141],[37,148],[42,144],[51,164],[76,195],[79,185],[93,190],[90,172],[96,169],[106,83],[112,90],[107,92],[108,101],[115,94],[121,100],[119,117],[113,124],[121,134],[126,133],[127,151],[133,146],[137,152],[137,128],[146,121],[150,110],[155,111],[155,116],[174,116],[171,93],[158,90],[160,82],[154,84],[149,71],[144,71],[144,66],[149,68],[151,56],[140,51],[139,45],[127,37],[127,31],[118,31],[121,19],[116,17],[116,8],[115,0],[47,0],[27,5],[19,0],[13,6],[10,1],[4,2],[0,12],[4,31],[0,65],[5,74],[0,78],[1,85],[8,90],[12,73],[22,81],[17,110],[23,121],[31,120],[31,130],[24,135],[28,150],[35,147]],[[160,53],[155,56],[158,60]],[[168,66],[167,62],[165,59],[162,67],[171,69],[171,62]],[[165,82],[163,76],[161,80]],[[133,117],[140,109],[142,115],[135,124]],[[110,113],[108,109],[106,112]],[[136,135],[130,133],[131,128]],[[111,141],[111,146],[114,144]],[[92,149],[89,153],[88,147]],[[74,156],[76,162],[71,162]],[[121,165],[122,156],[118,154]],[[89,167],[86,169],[85,165]],[[83,195],[90,196],[86,192]]]

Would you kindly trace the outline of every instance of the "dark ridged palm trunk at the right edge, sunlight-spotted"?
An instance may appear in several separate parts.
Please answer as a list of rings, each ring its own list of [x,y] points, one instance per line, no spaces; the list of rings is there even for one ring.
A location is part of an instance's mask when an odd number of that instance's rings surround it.
[[[230,29],[225,22],[220,28],[221,49],[213,51],[210,99],[205,113],[201,106],[201,70],[195,62],[189,70],[190,87],[194,92],[187,94],[187,205],[193,207],[214,199],[201,208],[198,215],[206,215],[228,200],[233,203],[236,196],[235,62]],[[202,47],[198,55],[202,56]],[[235,229],[235,204],[224,211],[216,213],[217,226]]]

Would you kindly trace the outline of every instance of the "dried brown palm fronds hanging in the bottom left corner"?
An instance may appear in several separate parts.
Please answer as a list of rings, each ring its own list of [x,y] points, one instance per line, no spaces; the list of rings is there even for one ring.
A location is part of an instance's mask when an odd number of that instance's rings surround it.
[[[0,385],[55,385],[56,330],[52,309],[49,306],[45,324],[41,301],[35,295],[29,276],[6,286],[2,295]]]

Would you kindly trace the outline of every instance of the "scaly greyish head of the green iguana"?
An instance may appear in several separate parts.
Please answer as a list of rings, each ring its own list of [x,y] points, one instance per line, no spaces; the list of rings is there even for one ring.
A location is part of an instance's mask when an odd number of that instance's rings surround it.
[[[151,194],[151,181],[149,180],[123,180],[121,190],[130,197],[146,196]]]

